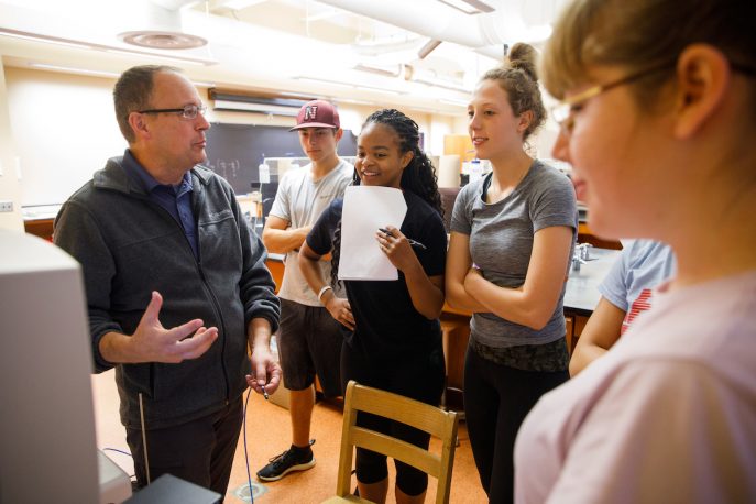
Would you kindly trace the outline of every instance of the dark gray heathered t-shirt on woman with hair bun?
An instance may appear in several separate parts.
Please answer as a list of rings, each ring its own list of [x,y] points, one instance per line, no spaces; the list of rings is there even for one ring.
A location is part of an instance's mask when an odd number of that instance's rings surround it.
[[[491,175],[486,175],[459,193],[451,216],[451,231],[470,237],[470,255],[485,280],[501,287],[518,287],[525,283],[536,231],[567,226],[577,237],[574,189],[567,176],[536,160],[507,197],[489,205],[483,200],[483,187],[490,178]],[[567,267],[566,274],[569,262]],[[472,316],[471,338],[492,348],[557,341],[566,330],[563,297],[565,287],[551,318],[541,330],[481,313]]]

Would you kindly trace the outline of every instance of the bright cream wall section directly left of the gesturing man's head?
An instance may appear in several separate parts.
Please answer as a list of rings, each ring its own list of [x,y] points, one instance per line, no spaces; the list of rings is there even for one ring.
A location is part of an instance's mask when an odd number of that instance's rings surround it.
[[[61,204],[125,147],[112,79],[6,67],[21,201]]]

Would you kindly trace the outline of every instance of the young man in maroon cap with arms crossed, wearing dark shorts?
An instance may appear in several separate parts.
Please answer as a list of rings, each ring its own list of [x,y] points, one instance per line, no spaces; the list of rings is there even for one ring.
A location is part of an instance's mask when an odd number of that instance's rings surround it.
[[[324,100],[305,103],[291,131],[299,134],[302,149],[311,161],[286,172],[278,183],[273,207],[265,220],[263,242],[270,252],[286,254],[284,280],[278,291],[281,327],[277,332],[284,386],[289,391],[292,447],[258,471],[262,481],[276,481],[292,471],[315,465],[309,439],[315,405],[315,375],[326,397],[341,395],[339,360],[342,336],[339,324],[320,303],[299,271],[299,245],[322,210],[343,196],[354,166],[339,158],[336,146],[343,134],[339,113]],[[330,261],[321,261],[330,277]],[[322,294],[322,293],[321,293]]]

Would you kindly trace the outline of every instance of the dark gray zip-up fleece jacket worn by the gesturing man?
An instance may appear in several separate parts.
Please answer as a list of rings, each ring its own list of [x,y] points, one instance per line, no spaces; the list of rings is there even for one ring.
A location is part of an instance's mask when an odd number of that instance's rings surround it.
[[[102,336],[133,333],[153,291],[163,295],[163,327],[200,318],[218,328],[218,339],[198,359],[116,365],[123,425],[139,427],[142,393],[146,428],[169,427],[240,397],[250,371],[246,326],[263,317],[275,331],[280,303],[265,248],[226,180],[201,166],[190,172],[197,261],[182,226],[150,200],[121,162],[109,160],[65,202],[54,240],[84,271],[95,372],[114,365],[99,352]]]

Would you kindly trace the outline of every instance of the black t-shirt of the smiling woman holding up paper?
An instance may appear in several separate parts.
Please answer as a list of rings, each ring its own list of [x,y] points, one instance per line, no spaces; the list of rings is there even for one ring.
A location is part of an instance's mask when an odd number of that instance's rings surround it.
[[[438,212],[419,196],[404,191],[407,215],[399,230],[426,245],[413,248],[428,276],[443,274],[447,234]],[[331,250],[333,230],[341,220],[343,199],[335,199],[324,210],[307,235],[307,245],[318,254]],[[375,245],[377,246],[377,244]],[[354,332],[344,335],[348,344],[365,355],[396,361],[412,360],[441,344],[438,319],[428,320],[412,304],[404,274],[395,281],[343,281],[347,298],[357,322]]]

